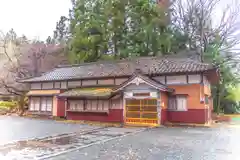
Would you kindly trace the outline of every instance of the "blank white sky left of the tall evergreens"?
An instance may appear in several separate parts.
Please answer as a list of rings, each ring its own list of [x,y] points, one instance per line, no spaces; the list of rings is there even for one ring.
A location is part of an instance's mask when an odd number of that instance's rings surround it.
[[[60,16],[68,15],[70,0],[0,0],[0,30],[45,40]]]

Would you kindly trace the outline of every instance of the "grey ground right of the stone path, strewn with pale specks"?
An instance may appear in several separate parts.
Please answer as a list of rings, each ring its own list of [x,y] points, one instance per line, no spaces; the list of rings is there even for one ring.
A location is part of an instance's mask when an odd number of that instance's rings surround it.
[[[240,128],[157,128],[51,160],[239,160]]]

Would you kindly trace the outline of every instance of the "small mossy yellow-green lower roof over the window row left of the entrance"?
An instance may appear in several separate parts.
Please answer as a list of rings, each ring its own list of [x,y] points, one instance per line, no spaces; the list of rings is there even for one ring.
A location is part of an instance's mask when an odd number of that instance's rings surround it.
[[[109,97],[111,88],[79,88],[59,94],[59,97]]]

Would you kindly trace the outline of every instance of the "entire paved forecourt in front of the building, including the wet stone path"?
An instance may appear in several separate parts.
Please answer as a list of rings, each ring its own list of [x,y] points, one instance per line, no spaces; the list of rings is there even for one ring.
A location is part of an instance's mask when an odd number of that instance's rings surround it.
[[[1,160],[239,160],[234,124],[145,129],[0,117],[0,126]]]

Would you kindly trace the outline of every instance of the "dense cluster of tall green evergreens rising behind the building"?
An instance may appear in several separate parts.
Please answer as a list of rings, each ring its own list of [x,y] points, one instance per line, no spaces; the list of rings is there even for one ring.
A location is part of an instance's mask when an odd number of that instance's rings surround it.
[[[167,53],[175,40],[165,10],[148,0],[77,0],[70,16],[74,63]]]

